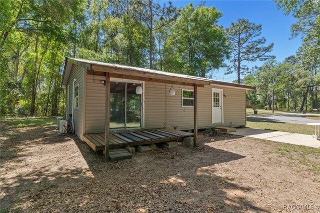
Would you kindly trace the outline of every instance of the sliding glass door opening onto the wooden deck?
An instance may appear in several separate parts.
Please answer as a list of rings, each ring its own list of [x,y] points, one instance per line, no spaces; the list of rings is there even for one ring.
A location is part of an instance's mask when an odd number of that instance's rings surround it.
[[[110,82],[110,128],[141,127],[142,96],[136,94],[139,83]]]

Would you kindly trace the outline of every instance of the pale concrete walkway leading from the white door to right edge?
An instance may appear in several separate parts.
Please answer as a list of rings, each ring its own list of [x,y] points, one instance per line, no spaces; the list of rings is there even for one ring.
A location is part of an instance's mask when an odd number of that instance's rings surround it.
[[[320,140],[317,140],[313,138],[312,135],[308,134],[289,133],[260,128],[237,128],[236,132],[229,132],[229,134],[320,148]]]

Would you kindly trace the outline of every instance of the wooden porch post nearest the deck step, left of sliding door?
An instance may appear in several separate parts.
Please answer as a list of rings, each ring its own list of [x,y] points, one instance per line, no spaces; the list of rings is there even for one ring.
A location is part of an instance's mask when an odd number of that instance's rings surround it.
[[[110,131],[110,74],[105,74],[105,129],[104,129],[104,161],[109,161],[109,131]]]

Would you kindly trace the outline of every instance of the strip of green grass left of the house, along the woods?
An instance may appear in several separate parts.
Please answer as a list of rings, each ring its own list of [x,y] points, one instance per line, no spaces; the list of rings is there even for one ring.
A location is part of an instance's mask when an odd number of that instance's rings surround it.
[[[1,119],[5,128],[22,128],[27,126],[53,125],[56,123],[56,117],[23,117],[23,118],[5,118]]]

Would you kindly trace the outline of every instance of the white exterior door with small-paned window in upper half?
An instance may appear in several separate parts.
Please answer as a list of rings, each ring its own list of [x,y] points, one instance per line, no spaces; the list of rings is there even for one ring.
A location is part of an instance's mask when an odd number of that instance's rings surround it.
[[[223,89],[212,88],[212,123],[223,123]]]

